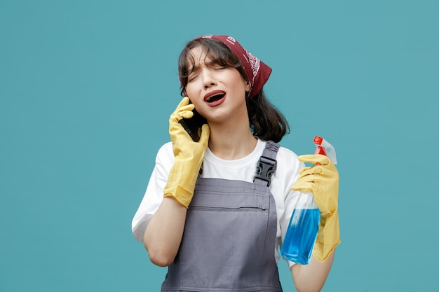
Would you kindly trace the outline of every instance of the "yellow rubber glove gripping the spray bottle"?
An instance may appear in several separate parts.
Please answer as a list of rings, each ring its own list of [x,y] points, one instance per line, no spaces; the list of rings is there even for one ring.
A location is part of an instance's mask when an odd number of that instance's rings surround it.
[[[299,160],[314,164],[300,169],[300,176],[291,187],[304,193],[313,193],[314,201],[320,209],[320,226],[318,227],[313,256],[323,262],[335,246],[340,244],[338,195],[339,173],[335,165],[325,155],[301,155]],[[316,165],[317,164],[317,165]]]

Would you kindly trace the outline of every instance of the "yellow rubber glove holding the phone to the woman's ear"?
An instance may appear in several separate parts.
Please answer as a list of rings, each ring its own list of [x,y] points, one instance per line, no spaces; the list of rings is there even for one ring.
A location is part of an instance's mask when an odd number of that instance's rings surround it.
[[[184,207],[189,206],[194,195],[196,179],[205,149],[208,147],[210,134],[209,126],[204,124],[201,128],[200,141],[195,142],[178,123],[182,118],[194,116],[193,109],[194,104],[189,104],[189,97],[184,97],[169,119],[169,134],[175,161],[170,169],[163,196],[175,198]]]

